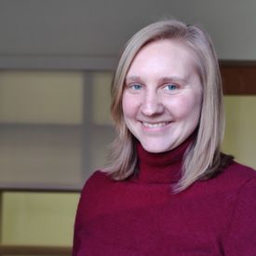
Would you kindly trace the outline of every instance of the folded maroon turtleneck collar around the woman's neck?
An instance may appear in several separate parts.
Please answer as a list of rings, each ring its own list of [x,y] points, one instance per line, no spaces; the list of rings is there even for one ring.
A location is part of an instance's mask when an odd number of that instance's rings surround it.
[[[147,152],[138,142],[139,173],[136,181],[146,183],[177,182],[182,174],[182,157],[193,139],[194,136],[191,136],[178,147],[163,153]]]

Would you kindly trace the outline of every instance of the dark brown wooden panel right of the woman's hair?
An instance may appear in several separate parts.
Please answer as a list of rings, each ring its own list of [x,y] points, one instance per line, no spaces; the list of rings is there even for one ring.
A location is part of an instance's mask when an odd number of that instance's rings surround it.
[[[221,61],[223,93],[256,95],[255,61]]]

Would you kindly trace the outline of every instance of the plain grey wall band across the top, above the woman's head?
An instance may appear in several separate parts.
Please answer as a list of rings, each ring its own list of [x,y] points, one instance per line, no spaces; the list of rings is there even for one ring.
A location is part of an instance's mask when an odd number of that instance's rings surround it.
[[[112,68],[131,34],[167,17],[201,24],[222,60],[256,60],[255,13],[255,0],[0,0],[0,67]]]

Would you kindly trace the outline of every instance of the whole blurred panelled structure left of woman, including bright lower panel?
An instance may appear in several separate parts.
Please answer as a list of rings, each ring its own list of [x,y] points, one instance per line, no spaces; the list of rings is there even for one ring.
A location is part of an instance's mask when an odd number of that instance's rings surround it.
[[[79,191],[114,139],[111,80],[0,71],[0,255],[68,255]]]

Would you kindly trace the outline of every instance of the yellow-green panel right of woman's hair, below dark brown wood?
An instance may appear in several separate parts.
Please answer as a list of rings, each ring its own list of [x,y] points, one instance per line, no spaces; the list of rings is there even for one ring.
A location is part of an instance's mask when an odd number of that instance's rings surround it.
[[[256,168],[256,96],[225,96],[225,136],[222,150]]]

